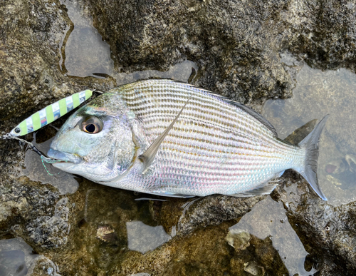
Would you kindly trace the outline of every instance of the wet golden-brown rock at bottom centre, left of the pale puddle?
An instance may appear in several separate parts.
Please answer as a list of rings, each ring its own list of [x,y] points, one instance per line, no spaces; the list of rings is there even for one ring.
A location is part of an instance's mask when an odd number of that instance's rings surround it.
[[[147,272],[149,275],[248,276],[250,274],[244,270],[247,262],[263,267],[265,275],[288,274],[269,238],[260,240],[252,236],[250,245],[244,250],[231,247],[225,237],[234,223],[236,220],[215,228],[202,228],[145,255],[128,252],[120,265],[112,267],[110,275]]]

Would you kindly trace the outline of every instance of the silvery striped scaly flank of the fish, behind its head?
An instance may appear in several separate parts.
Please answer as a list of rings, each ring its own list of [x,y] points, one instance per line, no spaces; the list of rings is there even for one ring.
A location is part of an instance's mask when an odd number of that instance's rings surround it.
[[[192,97],[157,152],[152,178],[159,181],[152,188],[146,180],[152,193],[243,193],[247,186],[257,188],[291,165],[303,163],[305,153],[299,148],[277,140],[245,111],[203,89],[152,80],[120,90],[117,93],[142,122],[151,143]]]

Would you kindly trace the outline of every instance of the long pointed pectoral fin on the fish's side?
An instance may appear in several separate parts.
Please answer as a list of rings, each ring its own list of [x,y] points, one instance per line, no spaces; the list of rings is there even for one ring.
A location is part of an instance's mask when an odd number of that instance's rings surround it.
[[[174,123],[177,122],[179,116],[182,114],[182,111],[184,110],[185,106],[187,106],[187,103],[189,102],[190,98],[188,99],[188,101],[184,104],[184,106],[182,107],[181,111],[179,111],[178,115],[176,116],[176,118],[174,118],[174,121],[172,121],[172,123],[168,126],[168,128],[165,129],[165,131],[163,131],[161,133],[161,135],[159,135],[156,140],[150,145],[150,147],[147,148],[147,150],[145,151],[145,153],[142,153],[138,158],[141,160],[141,162],[143,163],[143,168],[142,171],[146,170],[148,168],[149,165],[151,165],[153,159],[155,159],[155,155],[158,151],[159,145],[161,145],[161,143],[163,142],[164,138],[167,136],[167,134],[169,133],[169,131],[173,128]]]

